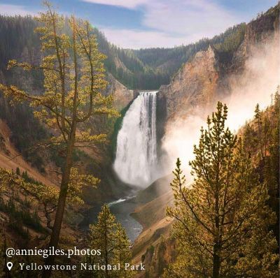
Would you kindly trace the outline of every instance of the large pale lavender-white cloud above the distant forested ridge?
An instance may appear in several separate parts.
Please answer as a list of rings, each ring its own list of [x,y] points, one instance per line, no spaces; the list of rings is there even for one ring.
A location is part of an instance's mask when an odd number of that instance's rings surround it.
[[[109,41],[121,47],[173,47],[215,36],[242,20],[213,1],[206,0],[83,0],[143,11],[139,29],[105,27]],[[141,29],[140,29],[141,28]]]

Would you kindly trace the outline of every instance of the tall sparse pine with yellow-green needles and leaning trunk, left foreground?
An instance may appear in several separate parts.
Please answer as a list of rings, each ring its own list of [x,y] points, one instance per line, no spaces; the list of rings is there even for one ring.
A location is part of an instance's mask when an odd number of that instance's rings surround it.
[[[29,102],[36,108],[34,115],[55,131],[53,134],[57,136],[42,145],[59,145],[64,149],[62,180],[49,244],[56,249],[71,182],[74,149],[104,142],[106,135],[93,133],[86,123],[97,115],[116,116],[118,113],[112,109],[112,96],[102,96],[107,84],[103,64],[106,56],[98,50],[90,23],[76,20],[74,16],[67,19],[56,13],[50,3],[45,2],[45,5],[47,11],[36,18],[41,24],[35,30],[41,36],[41,64],[8,62],[8,69],[43,72],[43,94],[34,95],[14,85],[0,84],[0,90],[14,102]],[[64,33],[66,25],[69,34]],[[54,260],[54,256],[48,256],[45,263],[53,265]],[[43,277],[48,278],[50,274],[51,268]]]

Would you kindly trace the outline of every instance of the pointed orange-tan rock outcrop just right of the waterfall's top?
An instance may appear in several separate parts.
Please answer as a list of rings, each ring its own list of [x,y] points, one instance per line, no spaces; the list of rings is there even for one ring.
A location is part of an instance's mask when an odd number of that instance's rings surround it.
[[[184,64],[170,85],[160,88],[158,102],[166,105],[166,117],[185,117],[190,110],[212,103],[218,92],[218,59],[213,47],[197,52]]]

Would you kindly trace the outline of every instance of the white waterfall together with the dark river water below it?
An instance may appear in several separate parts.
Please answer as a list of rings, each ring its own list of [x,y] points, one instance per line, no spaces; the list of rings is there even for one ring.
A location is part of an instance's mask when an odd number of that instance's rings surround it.
[[[113,168],[120,180],[144,188],[157,178],[156,101],[157,92],[141,92],[125,113],[118,132],[116,160]],[[134,191],[135,193],[135,191]],[[127,193],[128,194],[128,193]],[[131,217],[137,203],[132,196],[124,196],[108,203],[111,212],[123,225],[131,242],[142,231],[142,226]],[[92,207],[87,221],[97,221],[101,207]]]

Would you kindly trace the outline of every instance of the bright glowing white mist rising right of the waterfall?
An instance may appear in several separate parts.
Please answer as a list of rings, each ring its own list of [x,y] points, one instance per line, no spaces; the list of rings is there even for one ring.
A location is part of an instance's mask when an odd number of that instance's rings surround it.
[[[253,119],[255,105],[259,103],[265,109],[272,103],[272,94],[279,85],[280,61],[279,40],[274,39],[265,45],[258,45],[251,50],[246,60],[244,72],[230,77],[229,92],[223,92],[228,97],[219,99],[228,105],[227,126],[232,132]],[[193,145],[198,145],[200,129],[206,125],[206,113],[216,110],[216,105],[208,111],[195,110],[186,119],[175,119],[167,125],[167,132],[162,138],[162,148],[167,153],[168,161],[165,171],[171,173],[176,159],[182,161],[186,176],[190,177],[188,162],[194,159]]]

